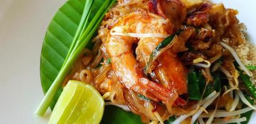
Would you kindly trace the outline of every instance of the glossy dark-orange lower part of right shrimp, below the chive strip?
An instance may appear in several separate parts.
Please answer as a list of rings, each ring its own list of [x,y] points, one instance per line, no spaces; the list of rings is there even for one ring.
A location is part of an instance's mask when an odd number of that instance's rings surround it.
[[[158,58],[158,66],[154,73],[161,84],[168,89],[176,89],[178,94],[187,93],[186,69],[176,55],[171,50],[165,51]]]

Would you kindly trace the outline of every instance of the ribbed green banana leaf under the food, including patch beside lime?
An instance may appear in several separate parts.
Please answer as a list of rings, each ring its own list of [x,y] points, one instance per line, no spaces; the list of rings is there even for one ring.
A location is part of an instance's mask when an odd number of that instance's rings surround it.
[[[104,0],[95,0],[92,7],[90,19],[96,13],[97,9]],[[67,1],[59,11],[54,15],[54,18],[49,24],[45,34],[44,43],[42,45],[42,53],[40,59],[40,79],[42,89],[48,91],[52,82],[62,68],[65,57],[69,52],[75,32],[80,22],[85,0],[70,0]],[[93,14],[94,13],[94,14]],[[89,20],[90,20],[89,19]],[[87,47],[92,47],[92,43],[88,43]],[[54,108],[62,88],[57,92],[50,108]],[[114,106],[105,107],[105,112],[101,123],[141,123],[140,116],[131,112],[125,112],[121,108]]]

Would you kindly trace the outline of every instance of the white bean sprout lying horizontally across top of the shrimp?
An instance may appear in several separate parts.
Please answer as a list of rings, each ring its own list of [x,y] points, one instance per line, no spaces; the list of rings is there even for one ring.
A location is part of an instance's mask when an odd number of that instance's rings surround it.
[[[114,27],[110,30],[111,35],[121,35],[121,36],[129,36],[129,37],[137,37],[137,38],[166,38],[169,35],[161,34],[161,33],[125,33],[125,26]]]

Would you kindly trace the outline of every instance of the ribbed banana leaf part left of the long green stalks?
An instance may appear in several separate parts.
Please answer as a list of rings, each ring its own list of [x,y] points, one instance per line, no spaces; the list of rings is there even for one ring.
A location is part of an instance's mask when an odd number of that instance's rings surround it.
[[[102,4],[102,2],[100,2]],[[80,24],[85,1],[67,1],[54,15],[45,33],[44,43],[40,57],[40,79],[44,94],[50,88],[52,82],[62,68],[65,57],[69,52],[73,37]],[[93,7],[96,7],[93,5]],[[75,9],[72,9],[75,8]],[[54,108],[62,87],[55,95],[50,108]]]

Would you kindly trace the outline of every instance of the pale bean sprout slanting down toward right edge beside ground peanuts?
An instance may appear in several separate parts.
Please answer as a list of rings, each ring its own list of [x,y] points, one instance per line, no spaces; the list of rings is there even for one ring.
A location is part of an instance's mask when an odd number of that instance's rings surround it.
[[[237,61],[237,63],[238,63],[239,66],[241,67],[241,69],[244,70],[245,73],[246,73],[248,76],[250,76],[250,77],[253,76],[252,72],[250,72],[250,71],[244,66],[244,64],[240,61],[239,56],[237,55],[237,53],[235,52],[235,50],[234,50],[233,48],[231,48],[229,45],[227,45],[227,44],[224,43],[224,42],[220,42],[220,45],[222,45],[222,47],[224,47],[224,48],[226,48],[227,50],[230,51],[230,53],[234,56],[235,61]]]

